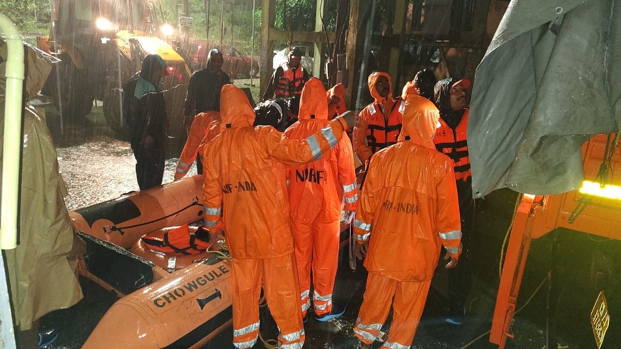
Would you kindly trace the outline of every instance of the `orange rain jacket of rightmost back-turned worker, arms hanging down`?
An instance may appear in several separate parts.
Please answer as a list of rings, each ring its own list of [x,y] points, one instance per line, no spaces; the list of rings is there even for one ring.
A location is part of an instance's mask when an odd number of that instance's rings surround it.
[[[399,143],[371,159],[356,218],[356,242],[369,241],[365,267],[397,281],[431,279],[442,245],[461,253],[453,161],[437,152],[440,119],[425,97],[407,97]]]

